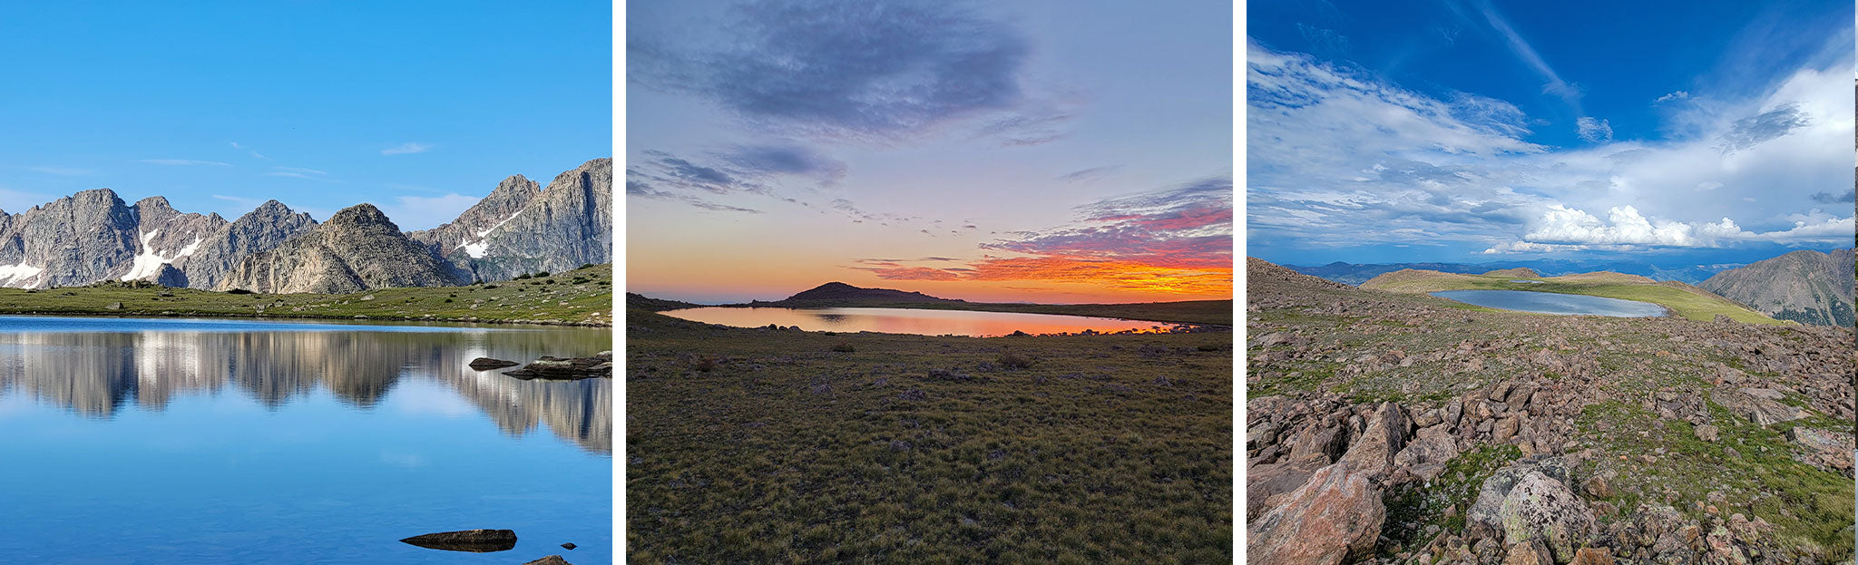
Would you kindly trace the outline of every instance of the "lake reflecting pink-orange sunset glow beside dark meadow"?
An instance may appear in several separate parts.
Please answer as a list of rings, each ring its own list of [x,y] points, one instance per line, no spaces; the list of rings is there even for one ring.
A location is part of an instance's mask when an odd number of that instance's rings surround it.
[[[1113,333],[1124,329],[1148,331],[1169,327],[1163,322],[1117,318],[1087,318],[1059,314],[975,312],[975,310],[918,310],[918,309],[682,309],[658,312],[691,322],[762,327],[799,325],[805,331],[877,331],[914,335],[1003,336],[1014,331],[1079,333],[1094,329]]]

